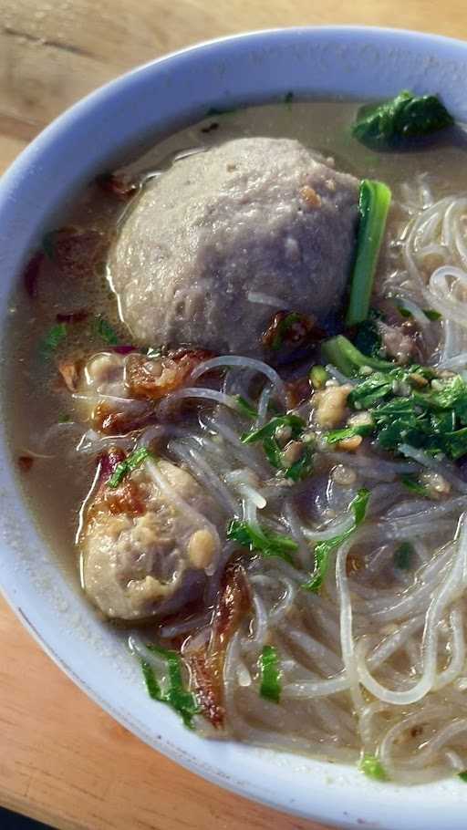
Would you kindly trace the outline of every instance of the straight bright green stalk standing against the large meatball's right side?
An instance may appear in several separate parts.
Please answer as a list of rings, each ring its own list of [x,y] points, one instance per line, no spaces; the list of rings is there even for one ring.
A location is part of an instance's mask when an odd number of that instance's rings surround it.
[[[357,255],[350,279],[346,323],[355,326],[368,317],[373,279],[383,241],[391,192],[387,184],[363,179],[358,200]]]

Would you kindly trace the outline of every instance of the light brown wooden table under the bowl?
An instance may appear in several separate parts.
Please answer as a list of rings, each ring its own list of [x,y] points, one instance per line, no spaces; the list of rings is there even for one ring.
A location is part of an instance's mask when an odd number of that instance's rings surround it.
[[[467,38],[465,0],[0,0],[0,171],[136,64],[245,29],[330,23]],[[63,675],[0,601],[0,804],[73,830],[319,830],[150,750]]]

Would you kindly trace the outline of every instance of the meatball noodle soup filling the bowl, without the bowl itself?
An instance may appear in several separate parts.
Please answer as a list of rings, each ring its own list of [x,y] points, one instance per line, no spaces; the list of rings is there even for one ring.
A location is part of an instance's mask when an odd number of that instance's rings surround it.
[[[289,94],[103,171],[31,252],[17,474],[154,718],[467,779],[466,161],[435,96]]]

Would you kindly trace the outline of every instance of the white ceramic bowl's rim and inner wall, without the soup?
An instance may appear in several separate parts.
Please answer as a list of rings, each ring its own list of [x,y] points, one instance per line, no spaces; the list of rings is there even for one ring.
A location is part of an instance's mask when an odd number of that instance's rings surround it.
[[[297,96],[384,98],[442,92],[467,120],[467,44],[365,28],[285,29],[202,44],[136,69],[69,109],[0,182],[0,316],[28,251],[77,188],[149,138],[232,107]],[[143,741],[215,783],[343,827],[464,830],[467,787],[374,783],[356,769],[203,742],[153,703],[118,635],[67,582],[28,513],[2,428],[0,580],[5,597],[57,664]]]

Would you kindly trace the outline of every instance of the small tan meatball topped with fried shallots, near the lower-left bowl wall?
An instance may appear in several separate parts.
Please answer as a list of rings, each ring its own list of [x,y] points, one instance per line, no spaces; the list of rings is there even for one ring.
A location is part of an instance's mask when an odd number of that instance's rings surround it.
[[[157,463],[163,492],[144,462],[109,487],[109,470],[80,539],[88,597],[109,618],[138,622],[197,597],[219,551],[222,516],[190,473]],[[171,497],[172,494],[172,497]]]

